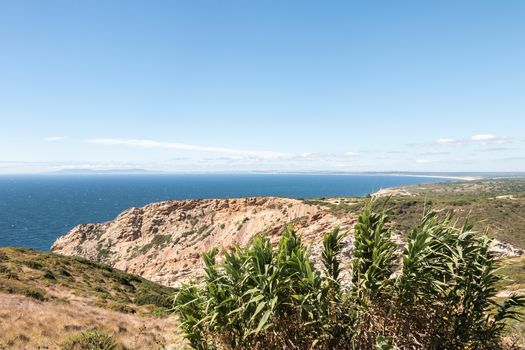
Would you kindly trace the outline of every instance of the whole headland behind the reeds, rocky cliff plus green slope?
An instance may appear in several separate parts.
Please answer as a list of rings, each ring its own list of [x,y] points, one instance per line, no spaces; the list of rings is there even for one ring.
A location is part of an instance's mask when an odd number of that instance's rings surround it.
[[[495,239],[501,256],[523,255],[525,247],[525,181],[481,180],[409,186],[380,191],[391,196],[386,206],[394,218],[394,239],[401,242],[421,218],[425,206],[469,217],[476,230]],[[253,197],[184,200],[131,208],[115,220],[80,225],[52,247],[63,255],[83,256],[168,286],[199,276],[202,252],[231,248],[264,233],[276,242],[292,224],[319,256],[323,234],[335,227],[344,238],[343,260],[351,256],[352,230],[368,198],[288,199]],[[384,200],[376,200],[384,205]]]

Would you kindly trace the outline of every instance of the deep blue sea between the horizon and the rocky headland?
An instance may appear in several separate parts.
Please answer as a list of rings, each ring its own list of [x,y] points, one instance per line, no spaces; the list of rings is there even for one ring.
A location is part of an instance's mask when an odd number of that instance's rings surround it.
[[[362,175],[0,176],[0,246],[48,250],[81,223],[168,199],[363,196],[436,179]],[[439,180],[443,181],[443,180]]]

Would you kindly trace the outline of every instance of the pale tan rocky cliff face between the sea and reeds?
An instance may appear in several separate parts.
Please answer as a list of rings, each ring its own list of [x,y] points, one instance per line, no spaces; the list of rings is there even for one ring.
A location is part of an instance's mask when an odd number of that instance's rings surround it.
[[[277,241],[283,226],[293,223],[316,255],[325,232],[336,226],[349,230],[355,219],[277,197],[166,201],[128,209],[110,222],[79,225],[51,250],[174,286],[200,274],[200,254],[211,247],[246,245],[261,232]],[[345,246],[350,249],[348,237]]]

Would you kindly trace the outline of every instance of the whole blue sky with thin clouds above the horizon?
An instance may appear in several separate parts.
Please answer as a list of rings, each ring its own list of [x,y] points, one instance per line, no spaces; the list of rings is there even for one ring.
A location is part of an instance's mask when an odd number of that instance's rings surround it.
[[[525,1],[0,0],[0,172],[525,171]]]

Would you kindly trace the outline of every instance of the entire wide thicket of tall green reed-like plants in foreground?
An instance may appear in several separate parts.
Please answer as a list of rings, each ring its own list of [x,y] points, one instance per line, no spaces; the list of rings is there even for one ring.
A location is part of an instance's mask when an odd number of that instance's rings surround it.
[[[325,235],[319,271],[288,227],[276,249],[204,254],[203,284],[175,298],[195,349],[500,349],[507,319],[525,297],[498,302],[490,241],[451,217],[426,212],[402,252],[389,215],[372,204],[354,232],[350,279],[341,278],[339,230]]]

